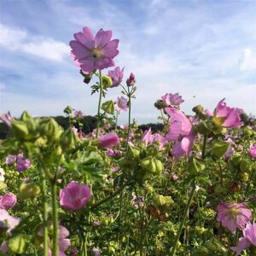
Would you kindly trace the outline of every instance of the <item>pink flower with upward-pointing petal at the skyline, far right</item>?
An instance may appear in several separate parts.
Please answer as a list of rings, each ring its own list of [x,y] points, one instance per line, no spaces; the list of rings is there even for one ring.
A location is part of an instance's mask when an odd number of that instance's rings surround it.
[[[243,111],[240,108],[227,107],[223,99],[218,102],[213,113],[213,118],[217,119],[223,127],[236,127],[241,125],[241,113],[243,113]]]

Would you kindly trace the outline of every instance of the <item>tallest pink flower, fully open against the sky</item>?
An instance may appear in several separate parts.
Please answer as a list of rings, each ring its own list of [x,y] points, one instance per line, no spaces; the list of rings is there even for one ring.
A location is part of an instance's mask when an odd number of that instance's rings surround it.
[[[112,31],[102,28],[93,36],[90,28],[84,26],[83,32],[74,34],[75,40],[70,41],[71,56],[75,64],[84,73],[91,73],[94,69],[102,70],[113,67],[113,58],[119,54],[119,40],[111,40]]]

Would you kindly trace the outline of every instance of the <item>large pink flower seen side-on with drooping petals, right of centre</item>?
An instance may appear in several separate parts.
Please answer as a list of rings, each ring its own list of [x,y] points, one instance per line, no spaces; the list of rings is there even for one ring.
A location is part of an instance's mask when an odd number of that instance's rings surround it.
[[[176,108],[165,108],[171,119],[170,131],[166,134],[167,141],[177,141],[172,148],[172,154],[179,158],[189,155],[194,143],[193,126],[189,119]]]

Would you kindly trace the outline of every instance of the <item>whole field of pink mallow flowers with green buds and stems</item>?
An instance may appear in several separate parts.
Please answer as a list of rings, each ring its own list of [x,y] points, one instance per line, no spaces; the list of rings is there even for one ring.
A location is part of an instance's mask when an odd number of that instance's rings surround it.
[[[26,111],[0,116],[0,255],[256,255],[255,119],[225,99],[186,115],[172,91],[152,102],[164,129],[138,129],[140,84],[115,67],[112,37],[85,26],[69,43],[99,96],[94,131],[69,106],[67,130]]]

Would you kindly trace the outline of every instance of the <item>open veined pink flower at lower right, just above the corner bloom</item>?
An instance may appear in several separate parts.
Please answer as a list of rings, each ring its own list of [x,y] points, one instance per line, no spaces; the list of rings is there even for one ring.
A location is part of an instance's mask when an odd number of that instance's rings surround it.
[[[245,203],[218,203],[217,220],[221,224],[235,233],[236,228],[243,230],[247,223],[252,220],[252,212]]]

